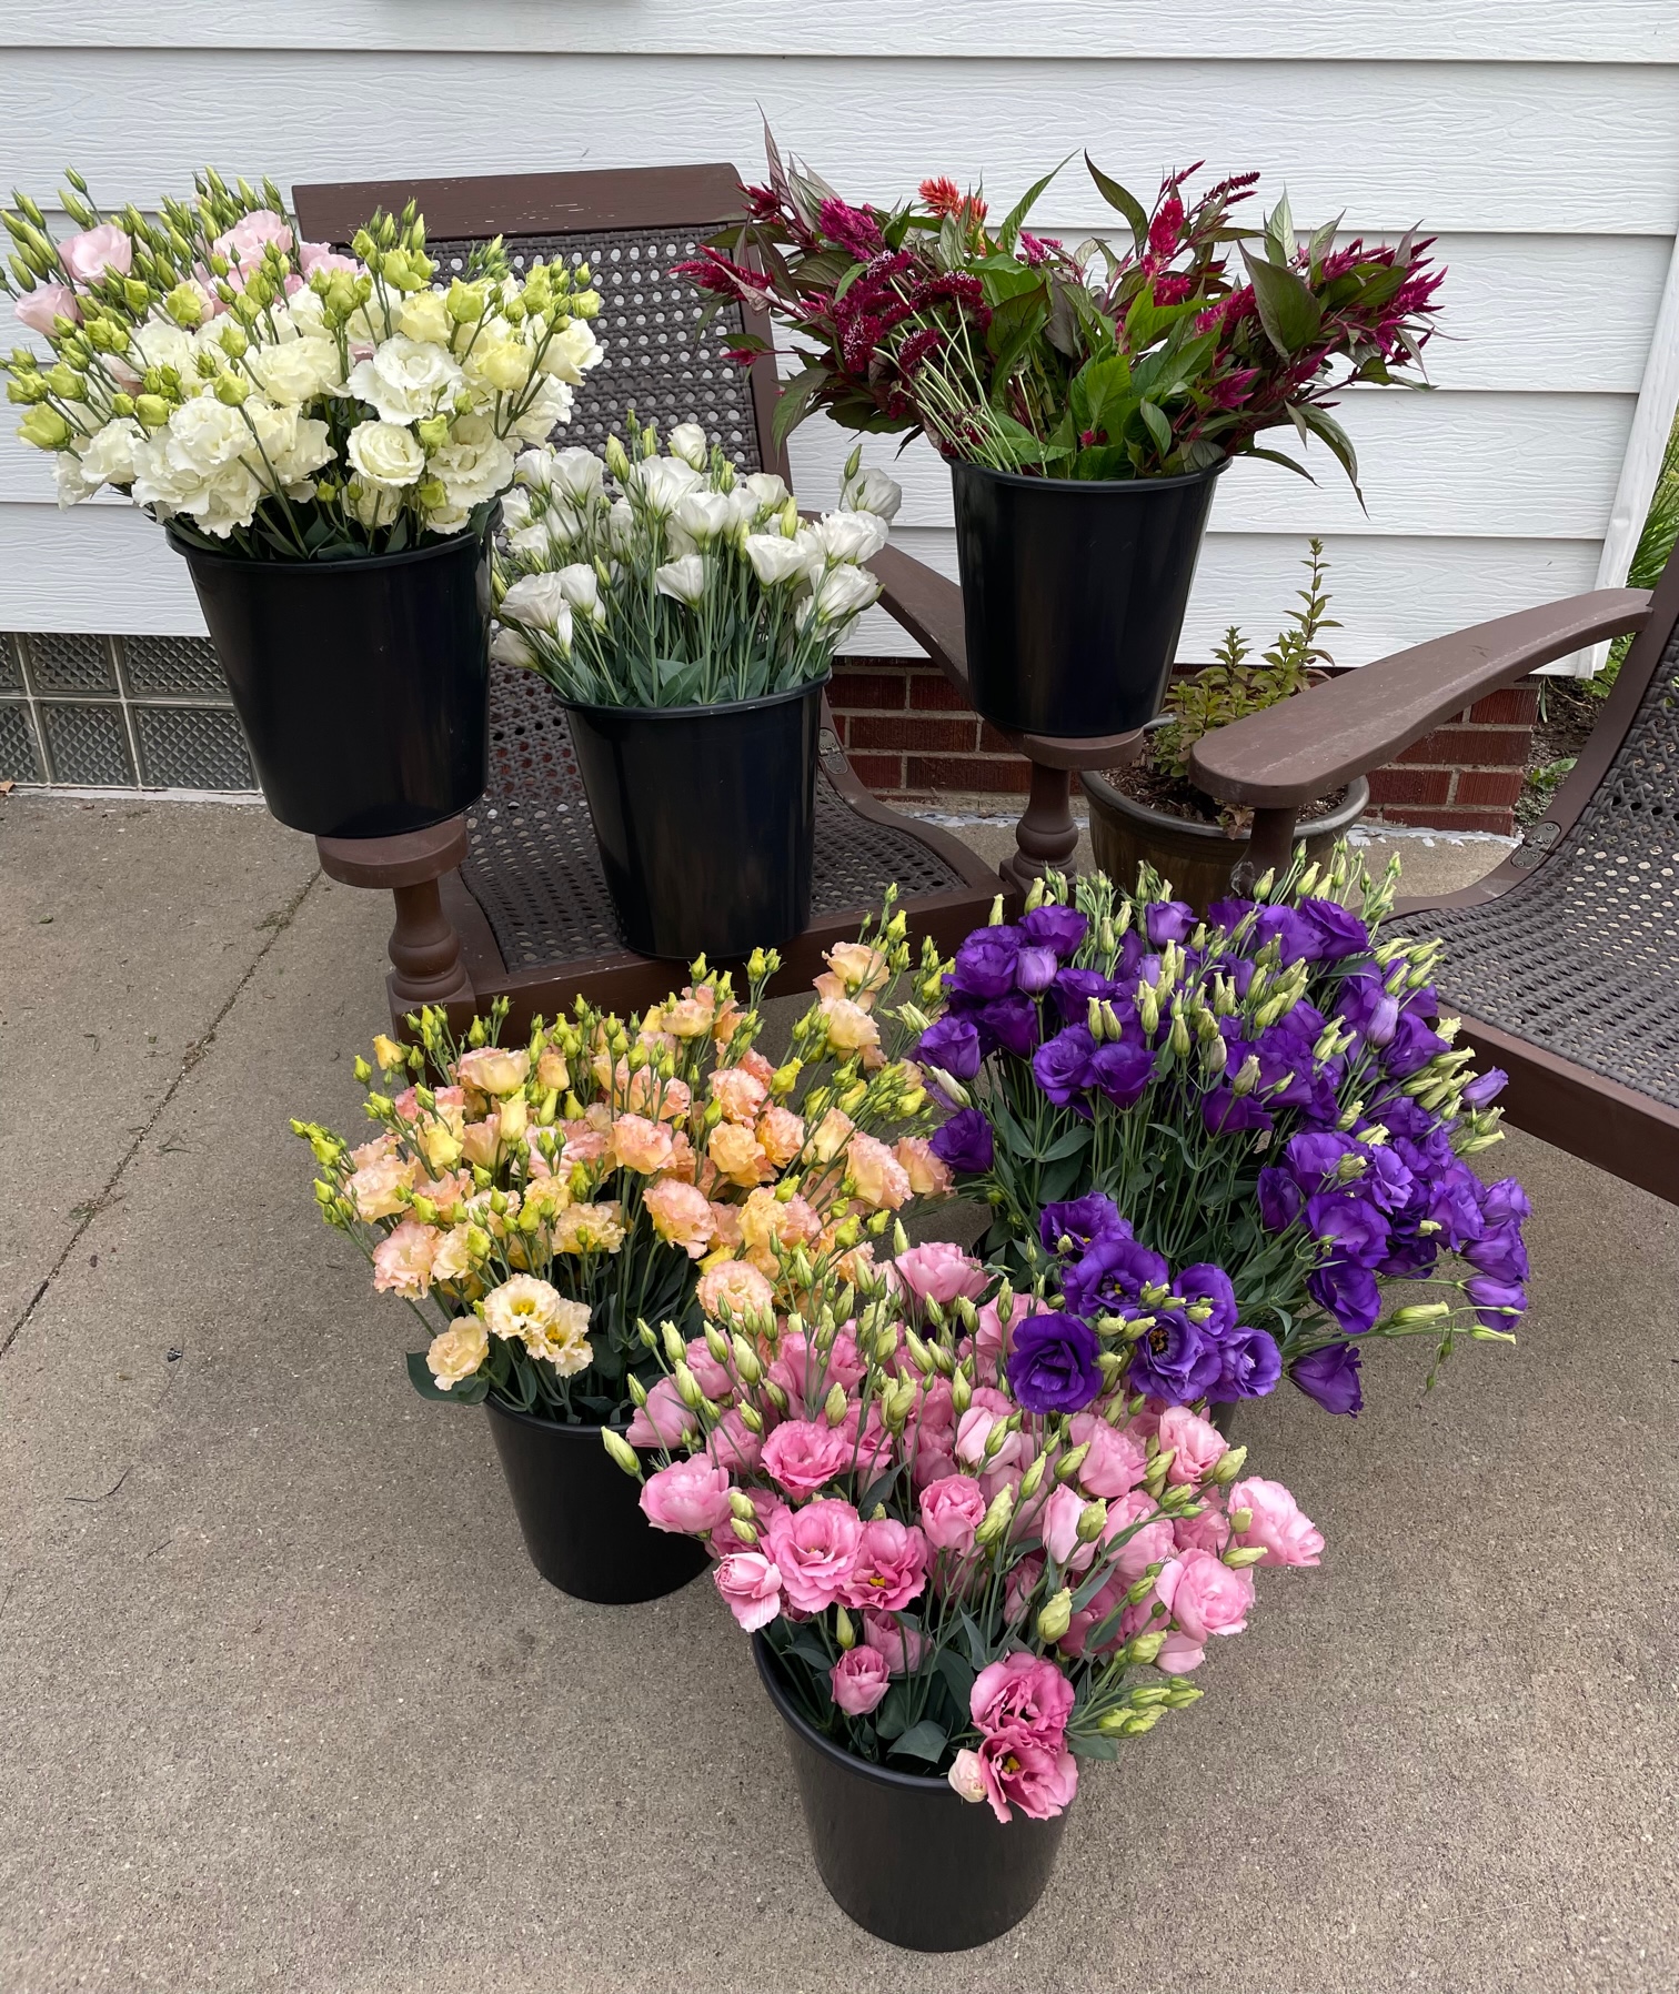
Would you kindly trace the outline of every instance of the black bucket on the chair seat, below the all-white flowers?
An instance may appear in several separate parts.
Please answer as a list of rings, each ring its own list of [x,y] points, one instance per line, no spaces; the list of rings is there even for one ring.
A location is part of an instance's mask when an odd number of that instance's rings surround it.
[[[572,748],[624,941],[690,963],[810,921],[826,678],[728,706],[572,706]]]

